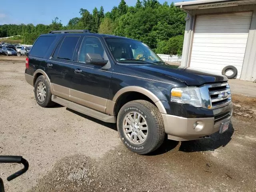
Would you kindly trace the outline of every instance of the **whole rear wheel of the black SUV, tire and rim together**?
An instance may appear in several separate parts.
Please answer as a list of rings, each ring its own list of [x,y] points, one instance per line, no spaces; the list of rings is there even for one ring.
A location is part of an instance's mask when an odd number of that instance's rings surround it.
[[[34,85],[34,94],[36,98],[36,102],[41,107],[50,107],[55,103],[52,102],[52,93],[50,90],[50,84],[46,81],[44,76],[39,76],[36,79],[36,83]]]

